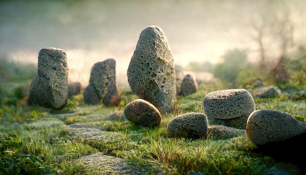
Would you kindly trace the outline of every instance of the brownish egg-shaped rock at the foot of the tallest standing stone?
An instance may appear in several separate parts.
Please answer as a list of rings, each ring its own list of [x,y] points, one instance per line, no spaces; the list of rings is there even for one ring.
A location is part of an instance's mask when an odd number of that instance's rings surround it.
[[[143,99],[136,99],[127,104],[124,114],[132,123],[144,127],[156,127],[161,123],[158,109]]]

